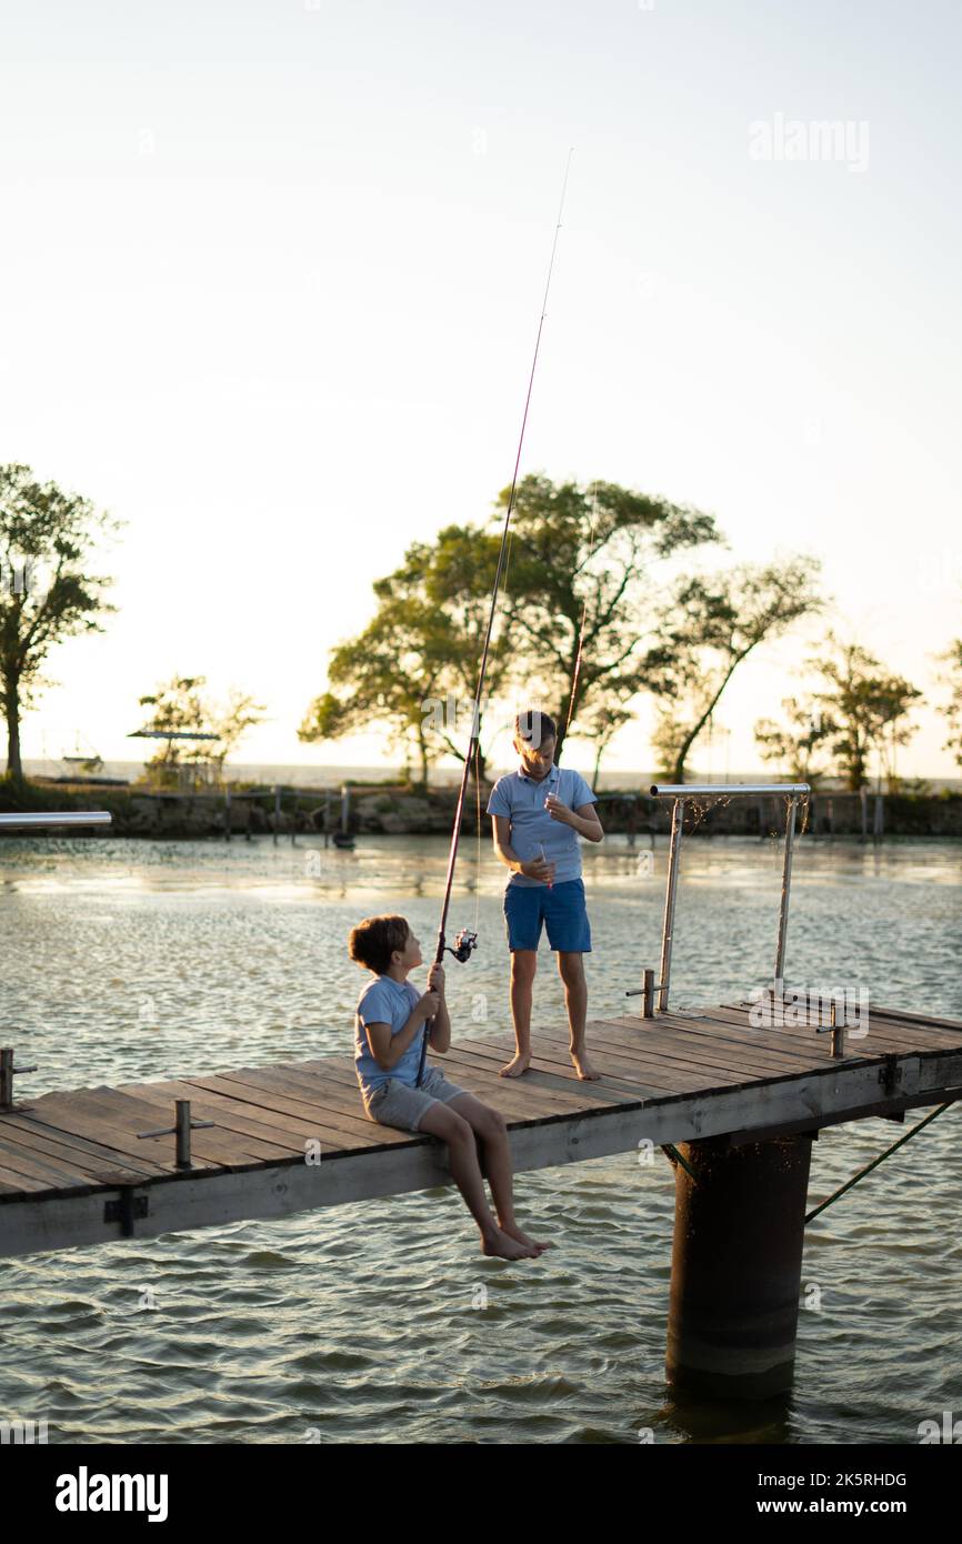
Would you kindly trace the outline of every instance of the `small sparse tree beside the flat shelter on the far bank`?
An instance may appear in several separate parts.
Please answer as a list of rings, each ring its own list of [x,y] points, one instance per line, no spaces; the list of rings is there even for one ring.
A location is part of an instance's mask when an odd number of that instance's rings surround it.
[[[255,724],[263,723],[264,704],[232,687],[221,706],[202,695],[205,676],[173,676],[147,696],[137,698],[141,707],[151,707],[145,729],[151,733],[171,735],[145,763],[145,770],[158,781],[173,786],[181,767],[208,764],[219,780],[224,763],[241,736]],[[178,740],[176,735],[216,735],[216,740]]]

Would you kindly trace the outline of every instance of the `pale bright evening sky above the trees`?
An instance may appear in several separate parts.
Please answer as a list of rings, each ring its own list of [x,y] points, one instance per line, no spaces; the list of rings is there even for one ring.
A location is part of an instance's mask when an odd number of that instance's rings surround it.
[[[0,0],[0,462],[125,522],[25,757],[131,757],[185,673],[267,704],[246,763],[395,763],[296,727],[372,581],[511,479],[571,147],[522,472],[696,505],[732,562],[814,553],[835,608],[695,764],[758,764],[829,625],[937,699],[960,56],[950,0]],[[899,769],[957,772],[917,723]]]

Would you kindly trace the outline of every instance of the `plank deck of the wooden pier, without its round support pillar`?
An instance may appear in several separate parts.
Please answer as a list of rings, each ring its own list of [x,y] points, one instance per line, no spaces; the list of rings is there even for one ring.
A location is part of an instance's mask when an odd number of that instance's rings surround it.
[[[726,1136],[732,1146],[811,1132],[962,1093],[962,1022],[872,1008],[843,1061],[814,1024],[757,1030],[749,1005],[594,1021],[604,1075],[579,1082],[567,1030],[534,1031],[533,1070],[497,1076],[511,1041],[460,1039],[448,1076],[505,1115],[517,1170]],[[191,1118],[191,1167],[174,1163],[174,1099]],[[45,1093],[17,1081],[0,1112],[0,1255],[276,1218],[446,1184],[445,1150],[366,1119],[346,1056]]]

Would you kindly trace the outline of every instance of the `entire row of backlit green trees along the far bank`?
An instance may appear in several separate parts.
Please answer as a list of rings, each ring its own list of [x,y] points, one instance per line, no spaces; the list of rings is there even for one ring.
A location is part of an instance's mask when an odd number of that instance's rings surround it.
[[[598,778],[615,735],[649,698],[658,772],[681,783],[744,661],[829,610],[811,554],[704,567],[706,553],[727,545],[712,514],[618,483],[531,474],[517,486],[486,693],[476,704],[506,500],[503,489],[486,522],[451,523],[411,543],[400,567],[374,581],[371,621],[332,650],[327,686],[298,729],[303,743],[383,727],[409,778],[426,786],[442,757],[463,760],[476,720],[471,770],[483,778],[491,743],[508,727],[497,704],[523,696],[557,723],[557,758],[568,735],[591,746]],[[103,631],[116,610],[113,581],[91,568],[117,528],[91,500],[40,483],[28,466],[0,466],[0,706],[11,778],[23,777],[20,720],[49,684],[51,648]],[[962,639],[939,664],[947,696],[936,706],[962,764]],[[808,689],[757,721],[760,757],[792,777],[835,775],[852,789],[879,758],[891,778],[922,692],[832,631],[803,673]],[[161,777],[199,758],[221,770],[264,713],[236,690],[213,703],[204,676],[174,676],[139,701],[150,710],[145,727],[171,735],[148,763]],[[178,738],[191,732],[218,738]]]

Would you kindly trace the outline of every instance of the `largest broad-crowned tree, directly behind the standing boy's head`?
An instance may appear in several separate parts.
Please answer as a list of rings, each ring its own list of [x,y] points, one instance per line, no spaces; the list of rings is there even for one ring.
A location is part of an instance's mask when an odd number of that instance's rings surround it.
[[[329,690],[310,704],[298,730],[303,740],[384,721],[394,744],[417,749],[426,781],[429,763],[445,752],[463,758],[473,715],[480,736],[489,704],[523,692],[520,707],[545,707],[556,720],[561,758],[584,618],[571,729],[604,750],[644,686],[642,618],[655,570],[686,548],[718,540],[715,522],[616,483],[522,479],[485,699],[476,704],[508,496],[503,489],[486,528],[446,527],[435,542],[409,547],[403,564],[375,582],[378,610],[361,635],[332,653]],[[480,777],[488,753],[489,740],[488,750],[479,746]]]

